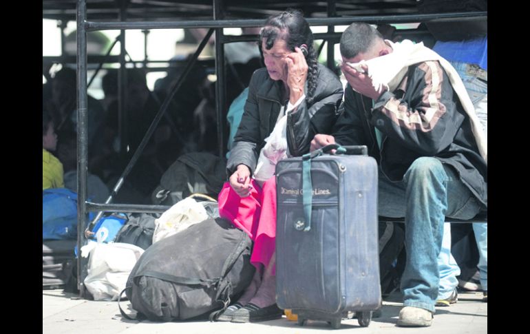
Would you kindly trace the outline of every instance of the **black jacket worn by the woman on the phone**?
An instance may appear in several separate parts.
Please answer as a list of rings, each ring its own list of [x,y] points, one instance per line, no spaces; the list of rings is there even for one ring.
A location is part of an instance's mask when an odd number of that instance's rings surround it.
[[[284,83],[273,81],[266,68],[256,70],[248,85],[248,98],[244,114],[234,137],[234,146],[226,164],[230,177],[237,165],[248,166],[253,173],[264,139],[274,129],[279,109],[288,101],[281,101]],[[312,101],[306,98],[287,117],[287,145],[291,156],[309,152],[315,134],[330,134],[337,110],[342,100],[342,84],[339,78],[324,65],[318,65],[318,79]]]

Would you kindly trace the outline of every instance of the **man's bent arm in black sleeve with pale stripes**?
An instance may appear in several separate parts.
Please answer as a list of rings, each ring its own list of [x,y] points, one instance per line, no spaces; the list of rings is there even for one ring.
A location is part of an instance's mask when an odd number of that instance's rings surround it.
[[[407,87],[384,92],[374,103],[370,122],[401,145],[434,156],[454,140],[465,114],[457,109],[447,74],[437,61],[410,67]]]

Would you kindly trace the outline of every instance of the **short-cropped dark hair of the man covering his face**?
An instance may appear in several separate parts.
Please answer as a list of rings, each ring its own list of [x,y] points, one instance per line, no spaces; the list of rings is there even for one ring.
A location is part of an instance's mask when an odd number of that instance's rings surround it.
[[[341,56],[354,58],[360,52],[367,52],[372,44],[383,35],[368,23],[352,23],[341,36]]]

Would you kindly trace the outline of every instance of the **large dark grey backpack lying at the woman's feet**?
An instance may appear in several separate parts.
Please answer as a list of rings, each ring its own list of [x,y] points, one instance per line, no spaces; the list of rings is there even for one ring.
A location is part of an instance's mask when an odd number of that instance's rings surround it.
[[[136,318],[170,322],[226,308],[251,283],[251,248],[248,235],[222,218],[155,242],[127,280],[125,293]]]

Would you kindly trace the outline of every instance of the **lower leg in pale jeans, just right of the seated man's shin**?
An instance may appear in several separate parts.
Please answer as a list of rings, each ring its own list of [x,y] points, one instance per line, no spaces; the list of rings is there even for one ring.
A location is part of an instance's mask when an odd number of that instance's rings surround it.
[[[456,286],[460,275],[460,268],[451,255],[451,223],[443,225],[442,249],[438,254],[438,271],[440,272],[440,286],[436,306],[449,306],[457,301]]]

